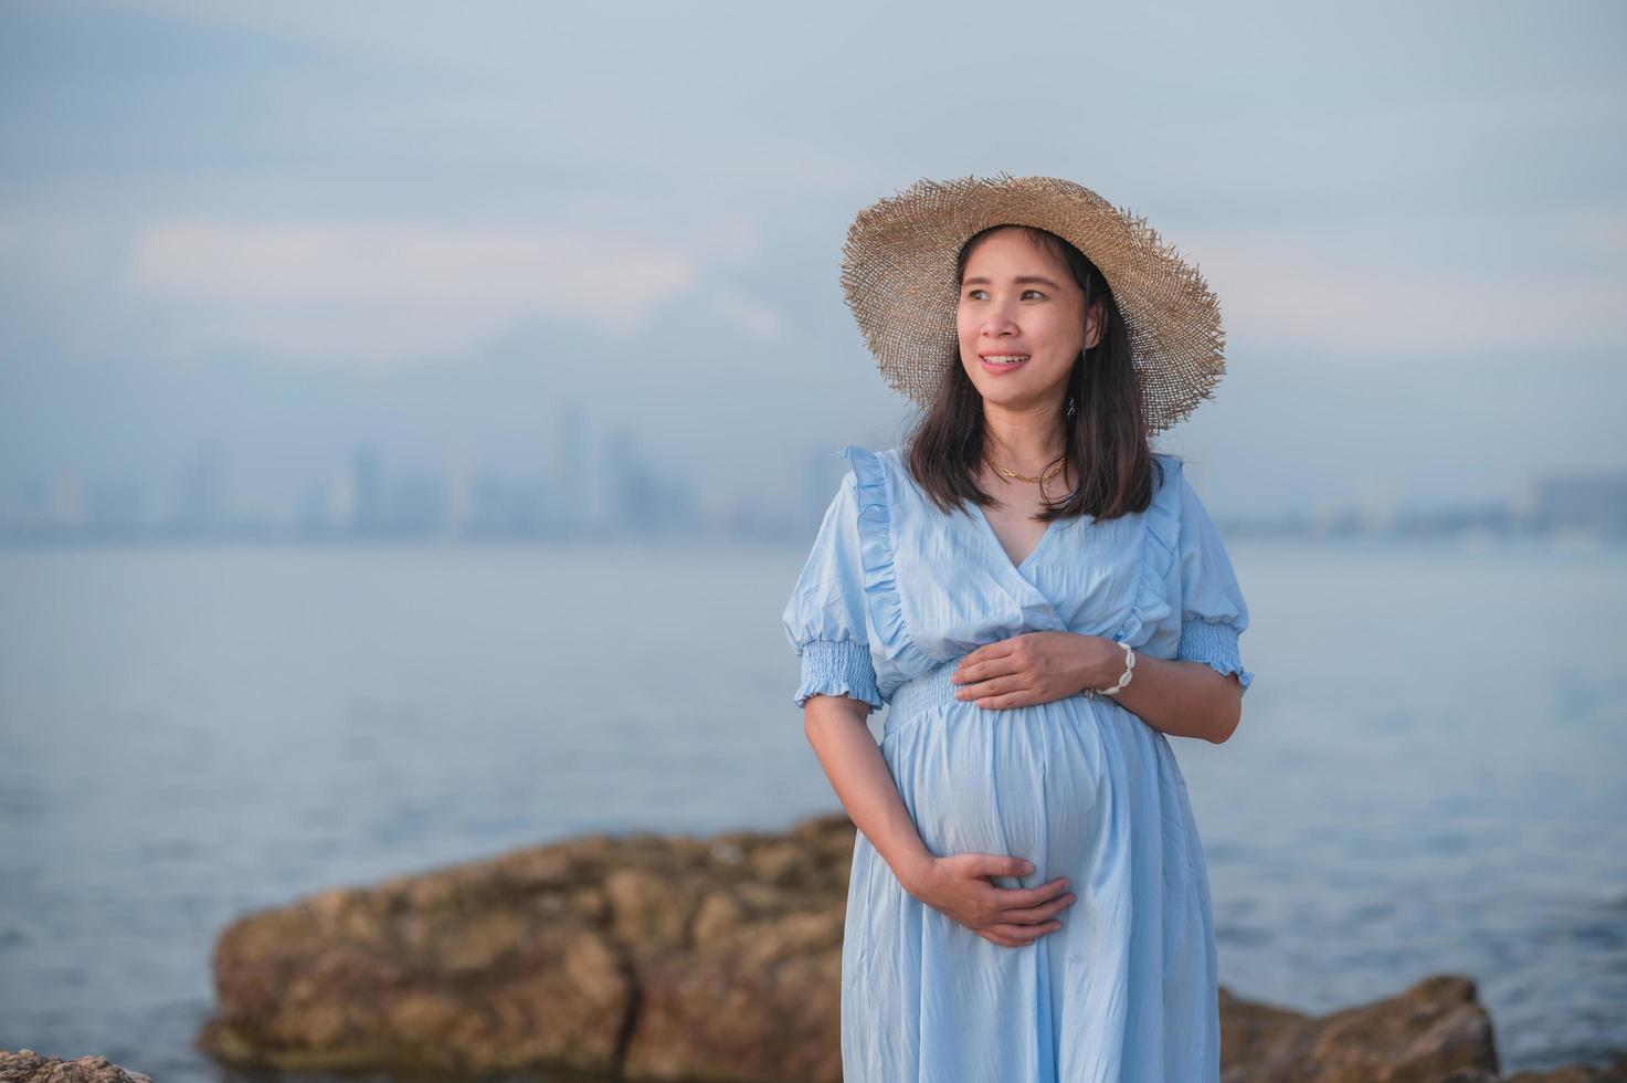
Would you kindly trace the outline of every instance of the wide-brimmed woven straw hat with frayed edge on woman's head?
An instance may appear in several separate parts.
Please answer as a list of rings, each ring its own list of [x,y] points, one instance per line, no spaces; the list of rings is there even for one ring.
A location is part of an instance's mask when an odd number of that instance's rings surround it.
[[[1225,375],[1220,305],[1196,265],[1144,218],[1059,178],[965,178],[911,184],[866,207],[848,230],[841,287],[887,384],[927,406],[960,357],[955,257],[976,233],[1028,225],[1071,241],[1113,290],[1129,331],[1152,432],[1212,397]]]

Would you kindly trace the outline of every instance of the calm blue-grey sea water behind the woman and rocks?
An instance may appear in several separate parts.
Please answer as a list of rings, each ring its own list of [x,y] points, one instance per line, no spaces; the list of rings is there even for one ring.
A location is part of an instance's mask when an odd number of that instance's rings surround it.
[[[589,831],[838,808],[804,550],[0,552],[0,1047],[190,1052],[238,914]],[[1259,676],[1175,739],[1220,976],[1479,982],[1505,1070],[1627,1047],[1627,554],[1237,542]]]

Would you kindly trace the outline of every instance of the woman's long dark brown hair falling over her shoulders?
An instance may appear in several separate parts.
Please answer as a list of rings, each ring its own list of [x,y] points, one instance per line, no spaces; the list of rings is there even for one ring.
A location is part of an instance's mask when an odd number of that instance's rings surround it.
[[[966,261],[978,243],[1002,228],[1007,226],[989,226],[960,246],[955,261],[957,283],[966,277]],[[1041,523],[1080,515],[1113,520],[1145,511],[1155,490],[1154,471],[1158,471],[1158,484],[1163,480],[1162,464],[1152,454],[1141,381],[1131,365],[1129,335],[1113,290],[1097,265],[1069,241],[1038,226],[1017,228],[1067,264],[1074,282],[1085,293],[1087,318],[1097,305],[1106,308],[1108,318],[1097,345],[1082,350],[1074,362],[1067,394],[1058,404],[1062,459],[1079,477],[1079,487],[1062,500],[1048,503],[1033,518]],[[1077,406],[1072,417],[1067,415],[1069,399]],[[909,474],[940,510],[953,511],[966,500],[984,508],[999,506],[999,500],[976,484],[986,435],[983,396],[960,363],[957,345],[944,358],[937,394],[911,428],[905,446]]]

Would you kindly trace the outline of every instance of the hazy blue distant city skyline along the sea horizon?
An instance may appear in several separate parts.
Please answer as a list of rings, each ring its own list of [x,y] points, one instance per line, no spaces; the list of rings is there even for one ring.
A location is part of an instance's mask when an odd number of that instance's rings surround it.
[[[168,480],[130,472],[36,477],[0,490],[0,544],[85,541],[441,541],[584,537],[739,537],[807,542],[846,461],[805,449],[784,485],[703,502],[690,477],[628,432],[597,432],[566,409],[552,453],[530,463],[392,463],[358,445],[347,463],[309,480],[294,500],[244,490],[218,446],[182,461]],[[1232,536],[1551,534],[1627,541],[1627,471],[1533,476],[1500,500],[1417,505],[1321,505],[1272,515],[1212,511]]]

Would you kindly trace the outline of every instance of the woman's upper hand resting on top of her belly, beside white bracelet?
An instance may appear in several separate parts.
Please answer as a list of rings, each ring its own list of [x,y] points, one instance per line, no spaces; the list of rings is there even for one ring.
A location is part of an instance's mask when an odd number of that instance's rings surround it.
[[[960,686],[958,700],[992,710],[1028,707],[1097,687],[1103,664],[1123,656],[1113,640],[1100,635],[1023,632],[971,651],[950,679]],[[1111,682],[1108,677],[1106,684]]]

